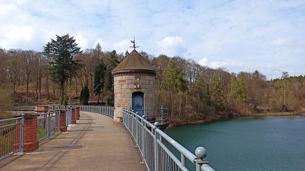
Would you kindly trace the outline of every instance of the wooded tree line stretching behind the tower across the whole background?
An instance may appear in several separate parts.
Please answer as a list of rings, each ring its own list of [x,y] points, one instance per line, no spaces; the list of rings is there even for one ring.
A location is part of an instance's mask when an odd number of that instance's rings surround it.
[[[56,36],[43,52],[0,49],[0,81],[5,92],[12,92],[11,101],[15,103],[39,104],[47,99],[49,103],[71,104],[78,100],[87,104],[92,99],[112,106],[111,71],[128,54],[103,51],[100,44],[81,51],[73,37]],[[157,70],[156,106],[166,106],[173,122],[228,114],[301,111],[304,107],[303,76],[283,72],[281,78],[267,80],[257,70],[229,73],[224,67],[210,69],[179,56],[140,54]]]

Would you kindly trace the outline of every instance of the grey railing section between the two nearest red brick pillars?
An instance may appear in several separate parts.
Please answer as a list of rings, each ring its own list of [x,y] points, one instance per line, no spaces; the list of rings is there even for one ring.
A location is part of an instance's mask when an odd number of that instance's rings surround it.
[[[40,114],[37,119],[37,140],[49,139],[60,130],[60,111]]]

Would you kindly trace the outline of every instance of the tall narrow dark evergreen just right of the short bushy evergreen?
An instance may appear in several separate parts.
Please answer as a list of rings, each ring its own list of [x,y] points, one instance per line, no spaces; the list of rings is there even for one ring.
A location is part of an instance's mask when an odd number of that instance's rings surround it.
[[[98,95],[98,103],[100,102],[101,93],[102,93],[102,103],[103,103],[105,72],[106,72],[106,65],[102,61],[102,63],[96,67],[94,72],[94,93],[95,95]]]

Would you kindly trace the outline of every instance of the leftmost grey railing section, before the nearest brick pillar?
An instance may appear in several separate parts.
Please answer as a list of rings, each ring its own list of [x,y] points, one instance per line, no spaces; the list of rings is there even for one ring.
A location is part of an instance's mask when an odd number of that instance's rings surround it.
[[[0,160],[23,152],[24,114],[22,117],[0,120]]]

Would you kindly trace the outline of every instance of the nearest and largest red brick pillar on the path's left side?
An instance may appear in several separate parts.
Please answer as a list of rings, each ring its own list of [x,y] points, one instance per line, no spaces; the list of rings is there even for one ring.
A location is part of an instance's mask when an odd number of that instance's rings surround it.
[[[37,140],[37,117],[39,114],[31,113],[24,116],[24,152],[33,152],[39,148]]]

